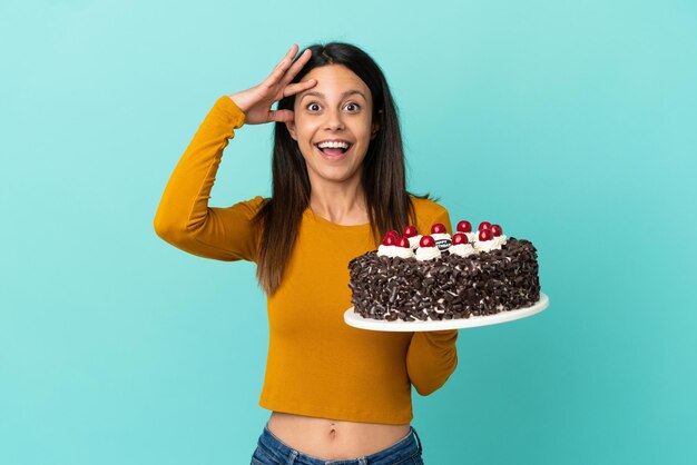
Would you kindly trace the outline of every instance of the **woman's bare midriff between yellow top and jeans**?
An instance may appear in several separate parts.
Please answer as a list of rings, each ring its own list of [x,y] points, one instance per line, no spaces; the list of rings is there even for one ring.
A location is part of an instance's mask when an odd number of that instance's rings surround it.
[[[383,425],[273,412],[268,431],[300,453],[330,461],[363,457],[403,439],[410,425]]]

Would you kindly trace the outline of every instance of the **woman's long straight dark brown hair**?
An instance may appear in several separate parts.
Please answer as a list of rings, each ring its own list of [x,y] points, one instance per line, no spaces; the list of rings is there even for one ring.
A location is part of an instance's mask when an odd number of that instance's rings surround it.
[[[342,42],[308,48],[312,58],[293,82],[300,82],[313,68],[343,65],[365,82],[373,96],[373,121],[380,125],[380,129],[363,159],[361,182],[371,231],[380,240],[387,230],[399,230],[415,222],[411,194],[406,191],[396,105],[382,70],[360,48]],[[278,109],[293,110],[295,96],[285,97],[278,102]],[[284,122],[276,122],[274,128],[272,178],[272,197],[255,216],[256,225],[262,228],[256,277],[267,295],[281,286],[303,212],[310,205],[311,185],[305,159]],[[428,195],[421,198],[428,198]]]

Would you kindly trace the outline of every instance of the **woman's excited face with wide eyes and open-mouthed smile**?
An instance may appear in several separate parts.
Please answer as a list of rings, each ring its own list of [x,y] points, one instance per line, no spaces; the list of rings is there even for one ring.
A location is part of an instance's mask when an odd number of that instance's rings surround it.
[[[314,68],[301,81],[308,79],[317,83],[295,97],[295,120],[287,128],[303,154],[311,184],[360,179],[377,131],[370,89],[343,65]]]

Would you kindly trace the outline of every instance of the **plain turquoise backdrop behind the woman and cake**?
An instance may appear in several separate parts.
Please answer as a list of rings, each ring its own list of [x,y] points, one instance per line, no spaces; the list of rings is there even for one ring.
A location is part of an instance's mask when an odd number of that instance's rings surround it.
[[[461,330],[428,464],[697,461],[694,1],[0,2],[0,463],[243,464],[269,412],[254,266],[153,218],[224,95],[293,42],[381,65],[410,188],[539,249],[550,308]],[[269,192],[271,127],[212,206]]]

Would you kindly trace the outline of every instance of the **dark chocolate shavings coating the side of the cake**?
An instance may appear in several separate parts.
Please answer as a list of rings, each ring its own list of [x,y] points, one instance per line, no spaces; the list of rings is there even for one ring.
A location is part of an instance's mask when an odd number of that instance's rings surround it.
[[[509,238],[500,250],[440,258],[379,257],[348,263],[351,301],[364,318],[394,321],[443,320],[493,315],[540,299],[537,249]]]

